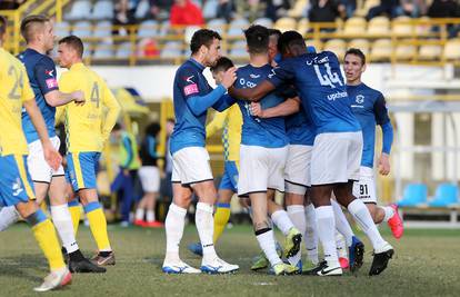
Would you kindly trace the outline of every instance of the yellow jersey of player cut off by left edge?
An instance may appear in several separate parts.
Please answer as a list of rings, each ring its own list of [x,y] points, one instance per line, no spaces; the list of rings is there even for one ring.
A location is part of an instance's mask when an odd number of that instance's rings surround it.
[[[34,100],[24,66],[0,49],[0,155],[28,155],[22,130],[22,103]]]

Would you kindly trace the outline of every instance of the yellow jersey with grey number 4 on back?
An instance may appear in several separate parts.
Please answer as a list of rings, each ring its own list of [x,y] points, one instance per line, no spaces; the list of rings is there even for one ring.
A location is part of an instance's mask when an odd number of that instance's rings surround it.
[[[82,90],[87,99],[83,106],[71,102],[58,110],[56,118],[60,112],[64,117],[67,151],[102,151],[120,113],[120,105],[106,81],[83,63],[76,63],[62,73],[59,88],[63,92]]]

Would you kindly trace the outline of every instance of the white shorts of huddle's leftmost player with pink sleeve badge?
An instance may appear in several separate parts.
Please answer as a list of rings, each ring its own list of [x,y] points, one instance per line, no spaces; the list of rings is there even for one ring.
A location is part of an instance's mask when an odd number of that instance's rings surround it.
[[[172,182],[182,185],[212,180],[209,154],[202,147],[188,147],[172,155]]]

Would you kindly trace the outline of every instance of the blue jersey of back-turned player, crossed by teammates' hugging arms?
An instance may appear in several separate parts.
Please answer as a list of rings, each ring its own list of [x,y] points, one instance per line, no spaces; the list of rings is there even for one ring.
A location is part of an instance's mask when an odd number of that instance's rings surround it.
[[[238,79],[236,81],[236,88],[254,88],[259,82],[267,79],[271,69],[272,67],[270,65],[262,67],[247,65],[240,67],[237,71]],[[278,106],[283,101],[284,98],[280,95],[271,92],[260,100],[260,105],[262,109],[267,109]],[[264,148],[281,148],[288,145],[283,117],[261,119],[252,116],[250,109],[251,102],[246,100],[237,100],[237,102],[243,118],[241,145]]]

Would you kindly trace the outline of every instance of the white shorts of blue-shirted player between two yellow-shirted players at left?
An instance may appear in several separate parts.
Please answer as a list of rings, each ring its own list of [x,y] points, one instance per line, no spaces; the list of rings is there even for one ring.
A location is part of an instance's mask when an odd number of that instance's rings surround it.
[[[59,151],[61,141],[59,137],[50,138],[52,146]],[[27,166],[29,168],[30,177],[36,182],[51,182],[52,177],[64,176],[62,165],[58,170],[52,169],[44,160],[43,147],[40,140],[29,143],[29,156],[27,157]]]

